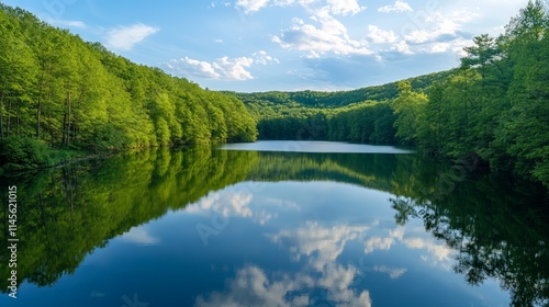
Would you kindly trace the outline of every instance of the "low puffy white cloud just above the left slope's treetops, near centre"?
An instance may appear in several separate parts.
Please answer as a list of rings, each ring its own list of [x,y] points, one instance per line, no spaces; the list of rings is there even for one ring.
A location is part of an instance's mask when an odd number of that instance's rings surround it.
[[[249,71],[254,65],[279,64],[280,60],[265,50],[254,53],[250,57],[217,58],[213,62],[183,57],[172,59],[165,66],[177,75],[219,80],[251,80],[255,77]]]

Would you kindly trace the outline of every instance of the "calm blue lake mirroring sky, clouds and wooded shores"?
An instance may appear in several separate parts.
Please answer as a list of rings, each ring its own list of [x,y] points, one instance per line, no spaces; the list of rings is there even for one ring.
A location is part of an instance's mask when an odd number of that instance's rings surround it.
[[[546,191],[478,167],[259,141],[2,179],[19,241],[16,299],[0,251],[0,306],[548,304]]]

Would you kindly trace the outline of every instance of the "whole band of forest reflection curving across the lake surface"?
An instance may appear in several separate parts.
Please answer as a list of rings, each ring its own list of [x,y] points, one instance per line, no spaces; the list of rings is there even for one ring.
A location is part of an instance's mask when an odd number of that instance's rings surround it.
[[[473,285],[497,278],[514,305],[549,304],[549,198],[544,189],[489,177],[440,190],[440,173],[414,155],[224,151],[212,147],[121,155],[3,179],[0,196],[16,181],[19,284],[54,284],[111,238],[186,207],[211,191],[242,181],[336,181],[389,192],[404,225],[425,228],[457,252],[455,271]],[[24,217],[24,218],[23,218]],[[8,214],[0,213],[7,241]],[[0,250],[7,259],[9,251]],[[0,274],[9,268],[0,265]],[[7,280],[0,281],[3,293]]]

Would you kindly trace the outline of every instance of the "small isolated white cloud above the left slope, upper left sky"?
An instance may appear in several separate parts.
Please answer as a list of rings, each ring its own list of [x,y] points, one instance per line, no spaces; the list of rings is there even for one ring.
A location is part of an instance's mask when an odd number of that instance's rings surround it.
[[[107,46],[117,50],[131,50],[135,44],[158,31],[158,27],[143,23],[113,29],[107,36]]]

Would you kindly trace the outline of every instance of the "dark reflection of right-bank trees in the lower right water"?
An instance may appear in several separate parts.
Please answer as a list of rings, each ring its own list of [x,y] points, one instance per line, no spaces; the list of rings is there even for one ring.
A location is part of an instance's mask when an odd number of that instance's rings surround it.
[[[453,270],[470,284],[496,278],[514,306],[547,306],[549,198],[542,189],[527,194],[522,189],[516,182],[478,178],[438,194],[437,202],[401,198],[393,207],[397,221],[419,217],[425,229],[455,250]]]

